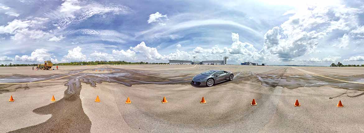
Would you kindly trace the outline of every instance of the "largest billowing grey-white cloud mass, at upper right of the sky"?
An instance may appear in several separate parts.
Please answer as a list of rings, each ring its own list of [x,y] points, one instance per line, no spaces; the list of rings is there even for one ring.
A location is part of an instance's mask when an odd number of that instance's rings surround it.
[[[359,33],[358,14],[363,13],[357,8],[345,5],[315,5],[302,8],[289,17],[280,27],[273,27],[264,35],[266,55],[274,55],[283,61],[312,53],[322,39],[332,34],[333,30],[345,33]],[[287,12],[285,14],[290,14]],[[351,31],[352,29],[355,29]],[[344,34],[339,43],[342,49],[348,49],[349,34]],[[312,59],[311,61],[315,61]]]

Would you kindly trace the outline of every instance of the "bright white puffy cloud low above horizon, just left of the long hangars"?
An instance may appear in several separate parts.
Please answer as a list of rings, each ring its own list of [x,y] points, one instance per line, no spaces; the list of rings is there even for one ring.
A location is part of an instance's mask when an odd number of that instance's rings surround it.
[[[146,57],[146,59],[149,59],[149,60],[163,59],[163,56],[158,53],[157,48],[147,47],[144,42],[141,42],[140,44],[138,44],[135,47],[130,47],[130,49],[132,49],[136,52],[143,53],[144,56]]]

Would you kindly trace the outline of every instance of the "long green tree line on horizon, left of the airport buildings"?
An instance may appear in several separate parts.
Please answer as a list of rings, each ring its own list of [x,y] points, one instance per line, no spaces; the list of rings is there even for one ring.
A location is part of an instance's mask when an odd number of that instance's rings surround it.
[[[168,64],[168,63],[148,63],[148,62],[126,62],[126,61],[80,61],[70,63],[54,63],[53,65],[99,65],[99,64],[110,64],[110,65],[124,65],[124,64]],[[1,64],[0,66],[37,66],[38,64]]]

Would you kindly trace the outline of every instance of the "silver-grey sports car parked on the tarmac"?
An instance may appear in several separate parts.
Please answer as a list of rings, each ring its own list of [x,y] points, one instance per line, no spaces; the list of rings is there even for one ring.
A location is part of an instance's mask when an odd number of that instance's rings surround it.
[[[192,78],[192,83],[199,86],[213,86],[215,83],[234,79],[232,72],[223,70],[208,70]]]

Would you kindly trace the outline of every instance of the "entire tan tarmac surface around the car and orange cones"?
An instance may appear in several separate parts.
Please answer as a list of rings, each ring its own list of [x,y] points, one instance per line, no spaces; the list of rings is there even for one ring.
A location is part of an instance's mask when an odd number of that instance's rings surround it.
[[[213,87],[190,84],[209,69],[235,78]],[[2,67],[0,83],[34,83],[0,85],[0,132],[364,132],[363,75],[360,67]],[[250,106],[253,98],[257,106]],[[336,107],[339,100],[344,107]]]

